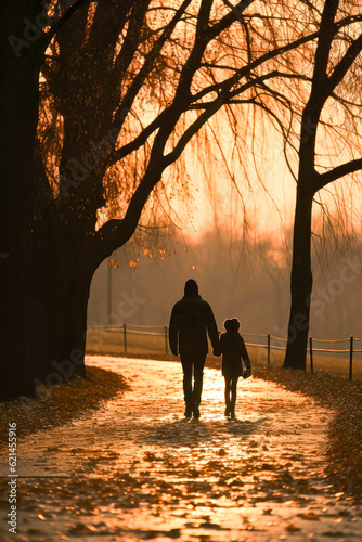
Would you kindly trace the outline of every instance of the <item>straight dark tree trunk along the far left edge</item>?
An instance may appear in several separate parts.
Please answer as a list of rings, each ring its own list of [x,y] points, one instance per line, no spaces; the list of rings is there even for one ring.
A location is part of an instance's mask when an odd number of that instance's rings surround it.
[[[0,8],[0,399],[30,395],[34,389],[27,323],[34,274],[34,152],[42,57],[34,43],[16,48],[10,37],[24,38],[24,18],[33,17],[39,7],[40,2],[31,0],[5,0]]]

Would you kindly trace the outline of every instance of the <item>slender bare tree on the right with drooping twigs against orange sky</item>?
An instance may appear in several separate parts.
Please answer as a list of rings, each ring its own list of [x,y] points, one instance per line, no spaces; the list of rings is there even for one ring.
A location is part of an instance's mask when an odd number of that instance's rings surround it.
[[[230,3],[229,3],[230,5]],[[259,12],[268,24],[261,26],[259,18],[251,16],[247,24],[248,62],[253,63],[255,42],[260,37],[268,40],[274,50],[280,47],[281,36],[295,33],[300,25],[301,34],[308,31],[314,37],[301,47],[286,51],[282,56],[271,60],[269,73],[276,70],[280,75],[266,77],[256,81],[249,95],[248,114],[244,116],[241,129],[241,114],[235,106],[245,106],[245,98],[231,98],[223,109],[228,115],[231,132],[234,134],[232,157],[243,163],[248,176],[247,153],[255,156],[260,150],[260,133],[268,141],[268,122],[272,122],[284,140],[284,153],[287,166],[297,183],[297,203],[295,214],[293,269],[292,269],[292,308],[288,324],[288,345],[284,366],[306,369],[307,338],[310,318],[310,299],[312,291],[311,274],[311,233],[312,204],[322,205],[324,194],[316,193],[331,182],[349,176],[361,169],[361,99],[359,78],[361,70],[361,21],[362,12],[354,1],[321,1],[311,4],[309,1],[298,5],[285,5],[281,2],[273,5],[273,14],[268,8]],[[288,13],[288,8],[290,12]],[[263,10],[267,10],[264,12]],[[295,24],[286,25],[284,33],[273,27],[273,20],[280,25],[286,21]],[[247,15],[243,17],[246,24]],[[266,35],[266,28],[268,34]],[[294,34],[295,35],[295,34]],[[266,68],[266,65],[263,65]],[[283,77],[281,77],[283,73]],[[259,72],[260,75],[260,72]],[[263,113],[267,114],[263,115]],[[269,120],[267,120],[269,119]],[[208,126],[211,126],[209,122]],[[270,128],[270,125],[269,125]],[[258,137],[256,134],[258,133]],[[217,130],[214,131],[218,144]],[[319,137],[318,137],[319,136]],[[249,139],[248,139],[249,137]],[[249,145],[245,145],[249,141]],[[268,143],[267,143],[268,144]],[[246,152],[245,152],[246,147]],[[251,151],[251,153],[250,153]],[[243,199],[230,156],[223,150],[225,171]],[[295,166],[297,165],[297,173]],[[254,166],[258,163],[254,159]],[[263,183],[262,175],[259,179]],[[267,186],[264,186],[266,190]],[[335,203],[339,206],[340,224],[345,221],[342,196],[336,194]],[[243,205],[244,202],[243,202]]]

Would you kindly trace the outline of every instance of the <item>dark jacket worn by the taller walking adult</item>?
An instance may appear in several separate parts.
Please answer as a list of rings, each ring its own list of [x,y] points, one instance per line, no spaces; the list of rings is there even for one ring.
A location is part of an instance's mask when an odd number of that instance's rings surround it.
[[[169,343],[172,353],[206,354],[207,334],[212,348],[218,349],[219,334],[211,307],[198,294],[184,295],[171,313]]]

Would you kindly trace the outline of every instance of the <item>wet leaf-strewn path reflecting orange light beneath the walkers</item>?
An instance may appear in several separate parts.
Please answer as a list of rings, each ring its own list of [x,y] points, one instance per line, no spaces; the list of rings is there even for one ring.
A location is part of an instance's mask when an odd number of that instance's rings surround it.
[[[17,483],[20,535],[1,521],[1,540],[362,540],[362,512],[324,481],[331,414],[311,399],[241,380],[227,420],[223,379],[209,369],[202,417],[189,421],[180,364],[88,364],[120,372],[130,389],[18,442],[17,473],[33,478]],[[3,455],[0,466],[8,473]]]

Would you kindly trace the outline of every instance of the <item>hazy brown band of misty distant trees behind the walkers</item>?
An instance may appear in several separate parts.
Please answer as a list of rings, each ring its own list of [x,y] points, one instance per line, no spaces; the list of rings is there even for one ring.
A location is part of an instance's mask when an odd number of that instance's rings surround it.
[[[129,243],[95,272],[88,307],[89,325],[165,325],[192,278],[212,307],[219,328],[237,317],[244,333],[286,337],[289,311],[292,233],[286,240],[232,240],[228,231],[206,233],[188,245],[181,235],[167,248]],[[360,241],[313,243],[310,334],[316,338],[362,336]],[[111,288],[109,288],[111,278]]]

